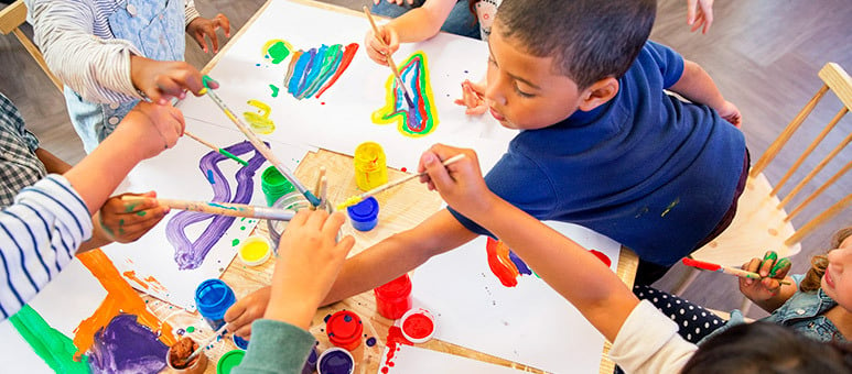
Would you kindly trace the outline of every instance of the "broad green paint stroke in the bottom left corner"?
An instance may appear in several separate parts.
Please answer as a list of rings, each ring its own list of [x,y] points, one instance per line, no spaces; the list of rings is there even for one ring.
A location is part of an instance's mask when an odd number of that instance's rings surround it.
[[[91,373],[88,358],[83,355],[74,361],[77,348],[62,332],[52,328],[33,308],[25,305],[18,314],[9,318],[15,330],[23,337],[47,366],[56,373]]]

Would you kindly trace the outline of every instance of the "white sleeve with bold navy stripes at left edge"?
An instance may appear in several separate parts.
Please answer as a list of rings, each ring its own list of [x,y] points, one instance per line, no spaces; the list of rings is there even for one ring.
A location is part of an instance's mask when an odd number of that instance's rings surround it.
[[[21,190],[0,212],[0,320],[44,288],[91,230],[86,205],[63,176]]]

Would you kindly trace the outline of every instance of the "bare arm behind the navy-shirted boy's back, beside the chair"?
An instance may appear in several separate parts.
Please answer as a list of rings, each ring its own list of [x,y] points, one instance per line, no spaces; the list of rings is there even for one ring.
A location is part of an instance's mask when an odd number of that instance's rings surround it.
[[[737,128],[742,124],[740,109],[725,100],[713,82],[713,78],[700,65],[689,59],[683,59],[683,74],[669,89],[692,102],[703,103],[715,109],[719,112],[719,117]]]

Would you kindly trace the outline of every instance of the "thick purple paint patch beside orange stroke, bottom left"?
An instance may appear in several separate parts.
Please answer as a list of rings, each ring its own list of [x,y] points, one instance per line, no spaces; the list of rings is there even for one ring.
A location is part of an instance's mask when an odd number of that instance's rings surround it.
[[[94,373],[157,373],[165,367],[169,346],[134,315],[118,315],[95,333],[89,351]]]

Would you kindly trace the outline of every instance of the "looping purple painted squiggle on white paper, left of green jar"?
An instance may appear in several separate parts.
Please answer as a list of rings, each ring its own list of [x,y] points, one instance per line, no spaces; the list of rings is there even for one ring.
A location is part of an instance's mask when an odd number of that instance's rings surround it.
[[[267,143],[267,145],[269,144]],[[251,195],[255,191],[255,172],[263,165],[266,158],[255,151],[255,146],[249,142],[234,144],[226,147],[225,151],[238,156],[249,152],[255,152],[255,155],[248,161],[248,166],[240,167],[237,172],[235,176],[237,179],[237,191],[234,194],[233,199],[230,185],[218,166],[216,166],[219,162],[231,161],[218,152],[211,152],[202,157],[198,168],[201,168],[204,179],[209,180],[211,176],[213,178],[211,184],[213,198],[211,198],[211,201],[248,204],[251,201]],[[198,235],[198,239],[195,242],[190,241],[185,229],[191,224],[208,219],[213,220],[204,229],[204,232]],[[169,239],[169,243],[174,246],[174,262],[177,263],[177,267],[180,270],[193,270],[201,266],[213,245],[225,235],[225,232],[234,223],[235,219],[235,217],[215,216],[197,211],[181,211],[172,217],[165,227],[165,237]]]

